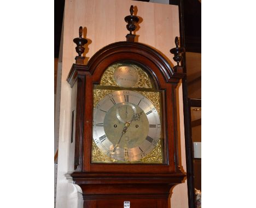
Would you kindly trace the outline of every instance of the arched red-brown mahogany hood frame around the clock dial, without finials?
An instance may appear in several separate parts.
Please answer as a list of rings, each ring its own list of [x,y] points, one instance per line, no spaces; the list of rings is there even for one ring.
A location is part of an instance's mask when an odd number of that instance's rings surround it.
[[[92,111],[94,84],[109,65],[130,60],[143,66],[152,76],[158,90],[164,91],[162,123],[164,124],[164,163],[162,164],[95,164],[91,163]],[[182,73],[175,72],[158,52],[138,42],[115,42],[95,53],[88,65],[73,64],[67,81],[72,88],[75,121],[74,169],[86,173],[181,173],[177,153],[176,86]],[[181,177],[184,175],[182,174]]]

